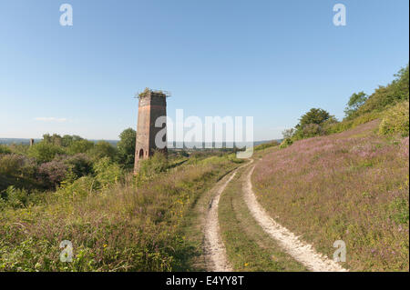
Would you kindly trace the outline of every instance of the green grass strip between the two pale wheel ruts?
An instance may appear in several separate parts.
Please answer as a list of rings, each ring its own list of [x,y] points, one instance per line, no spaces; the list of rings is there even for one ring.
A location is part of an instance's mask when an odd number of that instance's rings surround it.
[[[220,196],[220,233],[235,271],[306,271],[301,263],[282,251],[253,219],[243,199],[244,173],[238,170]]]

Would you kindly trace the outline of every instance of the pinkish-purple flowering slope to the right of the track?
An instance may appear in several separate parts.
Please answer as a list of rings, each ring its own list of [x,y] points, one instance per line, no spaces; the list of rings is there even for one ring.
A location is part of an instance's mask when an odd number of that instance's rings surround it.
[[[347,268],[408,271],[408,137],[381,137],[378,124],[270,151],[252,182],[272,217],[318,251],[333,257],[343,240]]]

